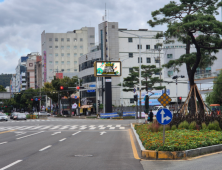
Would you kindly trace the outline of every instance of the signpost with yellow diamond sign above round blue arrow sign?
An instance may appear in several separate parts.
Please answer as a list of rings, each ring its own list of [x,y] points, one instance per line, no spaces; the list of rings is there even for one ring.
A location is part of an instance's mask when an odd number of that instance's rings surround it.
[[[163,93],[159,98],[158,101],[164,107],[160,109],[156,114],[156,120],[163,125],[163,145],[165,143],[165,125],[169,124],[173,119],[173,114],[170,110],[166,109],[166,105],[168,105],[172,99],[166,94]]]

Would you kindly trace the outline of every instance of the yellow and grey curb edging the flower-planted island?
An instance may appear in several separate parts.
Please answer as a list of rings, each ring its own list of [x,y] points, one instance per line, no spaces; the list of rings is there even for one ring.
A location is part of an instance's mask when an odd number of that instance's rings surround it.
[[[156,159],[156,160],[173,160],[173,159],[183,159],[189,157],[196,157],[208,153],[219,152],[222,151],[222,144],[206,146],[196,149],[190,149],[185,151],[154,151],[154,150],[145,150],[142,142],[139,138],[139,135],[136,133],[133,124],[131,123],[131,128],[133,130],[134,135],[136,136],[136,140],[139,143],[141,149],[141,155],[144,159]]]

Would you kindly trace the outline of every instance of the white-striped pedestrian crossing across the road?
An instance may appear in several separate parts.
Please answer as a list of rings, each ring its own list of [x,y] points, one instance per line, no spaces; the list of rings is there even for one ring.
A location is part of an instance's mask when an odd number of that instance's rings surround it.
[[[0,126],[0,131],[38,131],[38,130],[125,130],[122,125],[39,125],[39,126]]]

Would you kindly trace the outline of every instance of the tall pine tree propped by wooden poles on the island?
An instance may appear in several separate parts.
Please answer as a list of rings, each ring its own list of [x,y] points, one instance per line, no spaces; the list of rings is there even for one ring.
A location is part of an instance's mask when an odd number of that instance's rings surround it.
[[[171,68],[185,63],[191,87],[195,86],[196,69],[212,64],[216,60],[214,54],[222,48],[222,23],[214,16],[219,14],[217,10],[220,6],[222,3],[219,0],[180,0],[180,3],[171,1],[163,8],[152,12],[153,20],[148,21],[152,27],[167,24],[167,30],[156,36],[164,36],[165,43],[172,42],[171,38],[174,37],[186,44],[185,54],[164,66]],[[194,33],[199,33],[199,36],[195,37]],[[191,45],[195,46],[196,52],[190,52]],[[196,94],[203,116],[204,103],[197,89]],[[192,114],[195,114],[195,102],[193,91],[190,100]]]

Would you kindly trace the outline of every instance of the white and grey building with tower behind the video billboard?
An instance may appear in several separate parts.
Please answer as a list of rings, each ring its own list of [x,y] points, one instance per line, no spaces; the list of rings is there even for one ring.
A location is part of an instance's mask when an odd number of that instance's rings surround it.
[[[82,79],[83,86],[90,89],[95,85],[96,78],[94,77],[93,63],[96,60],[100,61],[122,61],[122,76],[112,77],[112,104],[124,106],[135,104],[133,101],[133,92],[122,92],[119,83],[123,78],[127,77],[132,67],[139,66],[139,36],[141,38],[141,57],[144,65],[156,65],[159,67],[157,60],[159,53],[153,51],[156,48],[156,43],[162,43],[162,39],[154,39],[154,35],[161,31],[149,31],[147,29],[127,30],[119,29],[118,22],[103,22],[98,26],[99,45],[91,48],[91,51],[79,58],[79,78]],[[133,35],[134,34],[134,35]],[[163,54],[160,54],[160,59],[163,59]],[[162,61],[163,62],[163,61]],[[156,76],[159,76],[156,75]],[[99,99],[104,103],[104,92],[102,87],[105,85],[105,79],[99,78]],[[82,103],[95,103],[95,93],[87,93],[82,91]],[[91,101],[92,103],[88,102]]]

